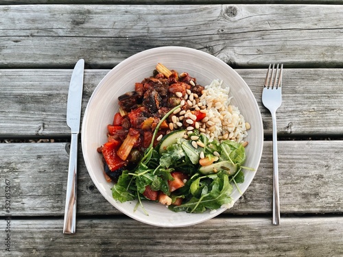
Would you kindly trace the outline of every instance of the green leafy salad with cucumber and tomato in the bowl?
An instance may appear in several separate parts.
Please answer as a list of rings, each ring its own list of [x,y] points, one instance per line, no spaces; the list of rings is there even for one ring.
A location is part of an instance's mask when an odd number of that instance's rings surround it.
[[[152,142],[159,125],[176,108],[158,123]],[[121,173],[112,188],[113,198],[121,202],[138,199],[137,207],[143,210],[147,200],[165,204],[174,212],[216,210],[233,201],[233,185],[239,190],[238,184],[244,182],[242,169],[250,169],[243,166],[245,160],[240,143],[209,142],[198,130],[191,134],[174,130],[156,147],[151,143],[134,169]]]

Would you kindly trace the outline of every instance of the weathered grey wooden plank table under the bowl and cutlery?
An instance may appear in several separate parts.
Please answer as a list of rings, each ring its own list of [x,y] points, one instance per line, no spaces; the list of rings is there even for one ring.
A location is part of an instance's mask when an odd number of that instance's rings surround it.
[[[343,256],[342,2],[210,2],[0,0],[0,256]],[[255,179],[217,218],[157,228],[100,195],[80,149],[77,232],[62,234],[75,62],[86,62],[83,114],[113,66],[167,45],[211,53],[250,86],[265,130]],[[274,62],[285,67],[279,226],[272,225],[272,123],[261,104]]]

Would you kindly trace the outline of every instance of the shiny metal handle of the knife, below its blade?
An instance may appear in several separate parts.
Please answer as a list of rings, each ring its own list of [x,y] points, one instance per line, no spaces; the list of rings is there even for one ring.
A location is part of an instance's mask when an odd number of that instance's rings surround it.
[[[76,227],[76,175],[78,166],[78,136],[78,133],[71,134],[63,234],[75,233]]]

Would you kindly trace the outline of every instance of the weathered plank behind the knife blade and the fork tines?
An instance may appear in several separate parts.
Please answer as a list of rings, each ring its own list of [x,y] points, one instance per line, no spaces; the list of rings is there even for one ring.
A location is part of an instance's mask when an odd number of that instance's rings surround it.
[[[287,66],[286,66],[287,68]],[[238,69],[259,103],[265,135],[272,133],[261,103],[266,69]],[[342,136],[342,69],[285,69],[279,136]],[[67,94],[71,70],[0,69],[0,137],[67,137]],[[82,114],[108,70],[86,70]],[[137,78],[141,81],[143,78]]]

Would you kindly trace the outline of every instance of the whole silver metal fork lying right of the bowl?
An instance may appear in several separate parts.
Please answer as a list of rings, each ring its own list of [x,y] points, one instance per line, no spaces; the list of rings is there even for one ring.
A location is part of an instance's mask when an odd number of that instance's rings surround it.
[[[277,149],[277,131],[276,131],[276,110],[279,109],[282,103],[281,99],[281,84],[283,64],[279,69],[277,64],[269,64],[267,75],[265,76],[265,84],[262,93],[262,103],[265,108],[270,110],[272,114],[273,127],[273,220],[274,225],[280,224],[280,202],[279,202],[279,167],[278,167],[278,149]]]

